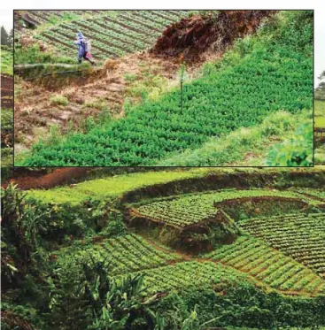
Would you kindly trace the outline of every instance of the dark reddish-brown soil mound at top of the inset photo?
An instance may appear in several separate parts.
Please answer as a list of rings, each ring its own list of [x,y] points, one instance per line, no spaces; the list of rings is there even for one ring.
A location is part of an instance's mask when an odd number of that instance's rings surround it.
[[[151,51],[164,57],[182,53],[185,60],[198,60],[206,50],[222,52],[236,38],[254,33],[262,19],[273,14],[275,11],[220,11],[193,15],[167,27]]]

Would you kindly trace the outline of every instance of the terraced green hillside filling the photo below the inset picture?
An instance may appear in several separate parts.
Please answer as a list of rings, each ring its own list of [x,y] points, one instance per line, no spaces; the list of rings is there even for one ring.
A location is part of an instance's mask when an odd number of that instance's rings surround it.
[[[113,171],[3,189],[4,328],[325,326],[322,167]]]

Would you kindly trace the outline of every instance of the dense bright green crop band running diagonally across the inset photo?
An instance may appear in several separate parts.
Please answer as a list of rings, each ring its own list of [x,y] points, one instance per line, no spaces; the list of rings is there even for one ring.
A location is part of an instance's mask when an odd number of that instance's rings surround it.
[[[37,144],[24,165],[150,165],[210,136],[257,125],[274,111],[312,109],[313,12],[277,19],[238,42],[204,77],[184,84],[182,109],[174,90],[107,127],[72,134],[56,146]]]

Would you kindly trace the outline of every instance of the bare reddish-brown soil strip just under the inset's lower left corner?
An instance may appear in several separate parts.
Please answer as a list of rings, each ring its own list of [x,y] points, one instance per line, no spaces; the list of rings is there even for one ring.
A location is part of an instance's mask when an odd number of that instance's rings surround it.
[[[35,188],[53,188],[56,186],[70,183],[73,180],[79,179],[90,171],[87,167],[67,167],[54,170],[52,173],[41,176],[27,175],[20,178],[15,178],[5,182],[2,186],[6,188],[9,183],[17,184],[20,189],[35,189]]]

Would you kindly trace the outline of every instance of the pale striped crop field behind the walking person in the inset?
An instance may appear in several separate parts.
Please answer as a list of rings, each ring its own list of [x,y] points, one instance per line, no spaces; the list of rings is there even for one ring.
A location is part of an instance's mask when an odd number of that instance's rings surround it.
[[[49,15],[31,12],[40,22],[48,20]],[[81,19],[55,25],[34,37],[74,58],[75,33],[81,31],[91,40],[91,52],[96,59],[119,58],[151,48],[168,25],[187,15],[187,11],[96,11],[91,17],[82,19],[81,15]]]

